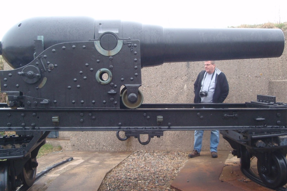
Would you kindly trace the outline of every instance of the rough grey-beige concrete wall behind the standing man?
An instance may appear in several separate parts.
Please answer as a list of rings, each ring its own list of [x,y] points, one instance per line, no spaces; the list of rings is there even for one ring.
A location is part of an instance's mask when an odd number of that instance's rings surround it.
[[[286,36],[285,47],[286,47]],[[280,58],[223,60],[216,67],[226,74],[229,95],[226,103],[256,101],[257,94],[275,95],[276,100],[287,103],[287,50]],[[193,83],[203,70],[203,62],[165,63],[142,69],[144,103],[193,103]],[[174,114],[176,115],[176,113]],[[166,131],[164,136],[153,138],[148,145],[140,145],[137,139],[119,141],[115,132],[60,132],[60,136],[71,140],[61,143],[66,150],[164,150],[191,151],[193,131]],[[203,150],[209,149],[210,131],[203,136]],[[144,139],[143,139],[144,141]],[[220,139],[221,150],[231,147]]]

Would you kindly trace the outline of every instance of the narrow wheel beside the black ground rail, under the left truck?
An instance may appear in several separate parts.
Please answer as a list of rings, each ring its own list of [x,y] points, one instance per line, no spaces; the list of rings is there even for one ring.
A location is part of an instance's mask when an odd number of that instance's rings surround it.
[[[22,181],[24,185],[31,187],[34,184],[37,166],[38,163],[36,157],[26,162],[22,171]]]

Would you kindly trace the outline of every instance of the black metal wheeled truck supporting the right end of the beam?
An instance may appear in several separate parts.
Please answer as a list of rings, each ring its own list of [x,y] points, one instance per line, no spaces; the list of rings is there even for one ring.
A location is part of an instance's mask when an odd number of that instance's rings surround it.
[[[256,137],[252,133],[254,138],[249,140],[251,144],[248,145],[246,144],[248,143],[248,136],[236,132],[238,131],[228,131],[228,133],[221,131],[223,138],[234,149],[232,152],[233,155],[237,155],[240,158],[241,172],[250,180],[272,189],[284,186],[287,183],[287,160],[286,149],[284,148],[286,137],[273,137],[272,143],[282,146],[281,148],[274,149],[274,147],[267,147],[265,145],[265,143],[271,140],[269,138],[261,137],[261,139],[255,139],[261,135]],[[238,139],[236,140],[236,138]],[[258,143],[257,146],[256,143]],[[264,145],[265,147],[263,147]],[[252,156],[257,158],[257,171],[253,171],[251,168],[250,159]]]

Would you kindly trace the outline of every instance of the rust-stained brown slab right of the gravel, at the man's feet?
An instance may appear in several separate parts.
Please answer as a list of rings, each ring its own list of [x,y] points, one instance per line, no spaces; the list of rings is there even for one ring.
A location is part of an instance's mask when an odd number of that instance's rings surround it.
[[[252,182],[240,171],[240,161],[230,157],[230,152],[219,151],[218,158],[212,158],[210,152],[202,151],[185,163],[170,187],[179,191],[189,190],[254,190],[271,191]]]

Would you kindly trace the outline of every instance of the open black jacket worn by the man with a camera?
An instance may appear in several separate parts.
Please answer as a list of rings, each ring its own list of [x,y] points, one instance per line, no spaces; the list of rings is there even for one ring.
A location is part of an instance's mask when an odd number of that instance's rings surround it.
[[[205,73],[205,70],[202,70],[194,83],[194,103],[200,103],[201,98],[199,97],[199,92],[201,90],[201,81],[203,80],[203,75]],[[225,98],[227,97],[229,92],[229,86],[226,79],[226,76],[223,72],[220,72],[220,74],[216,74],[215,76],[215,89],[214,94],[212,97],[212,103],[222,103]]]

